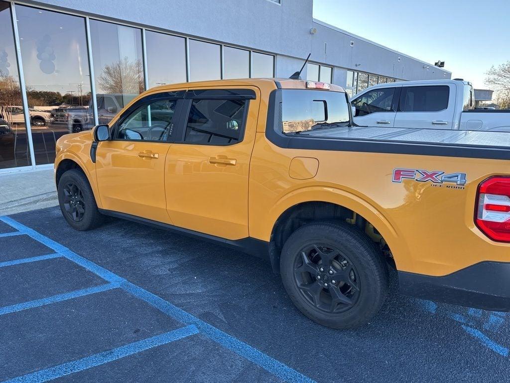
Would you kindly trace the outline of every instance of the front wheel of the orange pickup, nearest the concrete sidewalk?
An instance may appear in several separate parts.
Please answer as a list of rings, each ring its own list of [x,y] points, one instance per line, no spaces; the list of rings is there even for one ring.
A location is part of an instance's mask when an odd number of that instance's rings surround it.
[[[57,187],[60,210],[67,223],[75,230],[94,229],[104,222],[85,174],[70,169],[60,177]]]

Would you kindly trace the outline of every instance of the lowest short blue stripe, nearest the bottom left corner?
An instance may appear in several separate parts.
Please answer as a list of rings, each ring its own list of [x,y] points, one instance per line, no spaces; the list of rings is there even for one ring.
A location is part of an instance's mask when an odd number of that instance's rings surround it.
[[[18,376],[14,379],[6,380],[4,383],[41,383],[44,381],[56,379],[65,375],[70,375],[75,372],[87,370],[92,367],[100,366],[108,362],[115,361],[125,356],[133,355],[141,351],[148,350],[150,348],[162,346],[191,335],[198,333],[198,329],[195,326],[181,327],[176,330],[166,332],[164,334],[157,335],[152,338],[147,338],[135,343],[130,343],[125,346],[117,347],[112,350],[104,351],[95,355],[90,355],[72,361],[61,364],[59,366],[46,368],[31,374]]]

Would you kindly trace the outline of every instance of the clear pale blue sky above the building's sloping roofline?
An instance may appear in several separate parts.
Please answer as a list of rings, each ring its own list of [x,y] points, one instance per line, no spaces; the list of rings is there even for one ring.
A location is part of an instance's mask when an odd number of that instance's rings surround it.
[[[314,17],[429,63],[484,88],[486,71],[510,60],[505,0],[314,0]]]

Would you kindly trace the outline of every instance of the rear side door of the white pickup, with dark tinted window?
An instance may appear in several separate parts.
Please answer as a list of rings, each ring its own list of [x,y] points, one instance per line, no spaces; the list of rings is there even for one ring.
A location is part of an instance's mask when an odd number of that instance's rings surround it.
[[[402,85],[396,128],[453,129],[455,84]]]

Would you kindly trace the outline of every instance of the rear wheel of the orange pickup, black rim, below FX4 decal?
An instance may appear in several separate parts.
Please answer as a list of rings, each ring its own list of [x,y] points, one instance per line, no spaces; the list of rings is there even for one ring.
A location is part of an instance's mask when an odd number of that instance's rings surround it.
[[[299,310],[332,328],[366,324],[388,293],[388,269],[370,239],[344,223],[313,223],[288,238],[282,280]]]

